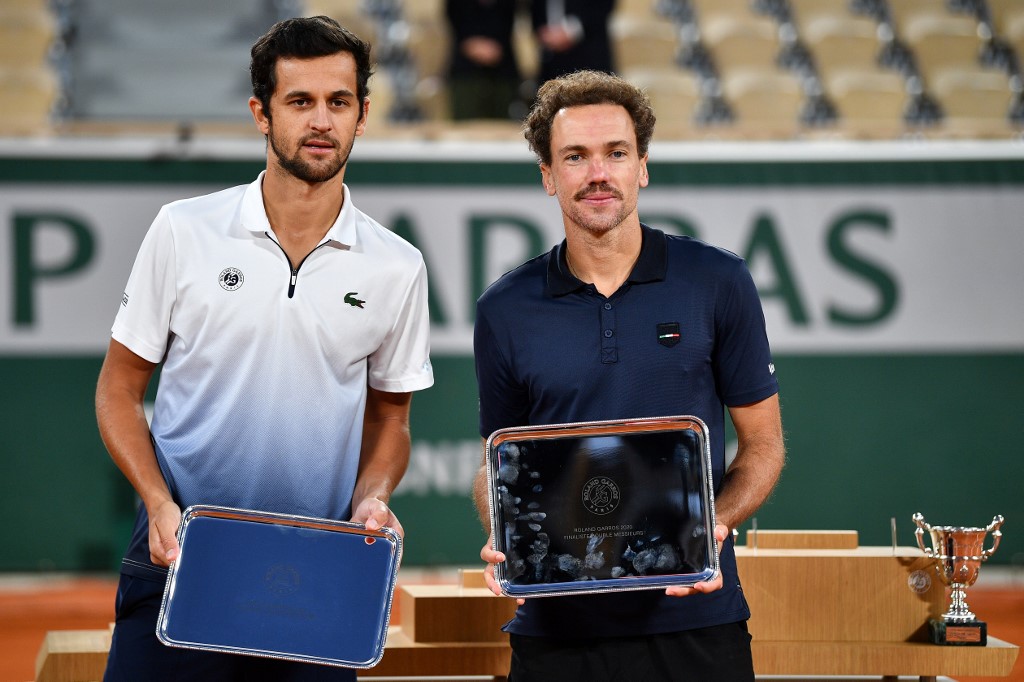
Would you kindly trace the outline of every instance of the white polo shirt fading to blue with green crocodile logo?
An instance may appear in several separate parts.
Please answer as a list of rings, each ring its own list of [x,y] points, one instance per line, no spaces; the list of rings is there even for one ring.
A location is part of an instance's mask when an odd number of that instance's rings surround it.
[[[262,179],[161,209],[113,336],[164,363],[152,432],[182,507],[347,519],[368,383],[433,383],[426,269],[346,186],[293,272]]]

